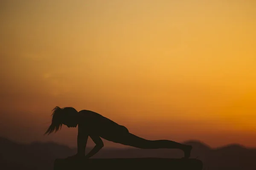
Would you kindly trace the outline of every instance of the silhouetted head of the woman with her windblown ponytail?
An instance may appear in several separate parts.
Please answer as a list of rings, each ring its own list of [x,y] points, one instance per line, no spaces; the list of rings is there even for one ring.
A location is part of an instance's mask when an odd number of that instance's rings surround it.
[[[61,129],[62,125],[67,125],[67,127],[76,127],[78,124],[78,117],[76,109],[72,107],[60,108],[56,106],[52,110],[52,123],[48,127],[45,134],[52,133],[53,131],[57,132]]]

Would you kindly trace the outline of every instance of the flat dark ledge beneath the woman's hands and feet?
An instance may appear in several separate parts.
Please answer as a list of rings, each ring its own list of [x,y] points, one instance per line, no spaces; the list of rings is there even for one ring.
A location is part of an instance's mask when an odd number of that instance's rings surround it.
[[[198,159],[118,158],[86,159],[83,161],[56,159],[54,170],[202,170]]]

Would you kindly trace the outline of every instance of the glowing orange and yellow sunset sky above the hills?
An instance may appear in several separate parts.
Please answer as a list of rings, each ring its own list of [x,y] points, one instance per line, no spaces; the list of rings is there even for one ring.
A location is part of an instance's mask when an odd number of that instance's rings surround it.
[[[43,136],[58,105],[146,139],[256,147],[255,8],[255,0],[1,0],[0,134],[76,147],[75,128]]]

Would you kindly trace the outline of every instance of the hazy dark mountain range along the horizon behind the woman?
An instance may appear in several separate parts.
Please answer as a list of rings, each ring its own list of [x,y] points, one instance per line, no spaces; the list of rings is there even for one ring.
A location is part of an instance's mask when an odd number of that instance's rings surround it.
[[[256,148],[246,148],[239,144],[211,148],[199,141],[186,141],[192,145],[192,159],[199,159],[204,170],[244,170],[256,167]],[[87,148],[87,152],[92,148]],[[8,170],[49,170],[55,159],[66,158],[76,153],[70,148],[55,142],[32,142],[21,144],[0,137],[0,169]],[[137,148],[103,148],[93,158],[181,158],[178,149],[137,149]]]

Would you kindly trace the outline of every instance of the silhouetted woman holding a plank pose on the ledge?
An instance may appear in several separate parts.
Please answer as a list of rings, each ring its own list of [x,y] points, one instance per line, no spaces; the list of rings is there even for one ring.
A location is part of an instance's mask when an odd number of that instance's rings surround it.
[[[87,159],[95,155],[104,146],[101,138],[141,149],[176,148],[184,152],[184,158],[190,157],[192,149],[190,145],[180,144],[170,140],[143,139],[130,133],[125,126],[119,125],[99,113],[88,110],[78,112],[72,107],[60,108],[58,106],[52,111],[52,123],[44,134],[49,135],[53,131],[56,133],[62,125],[66,125],[67,127],[78,126],[77,154],[68,157],[68,159]],[[85,147],[89,136],[96,145],[85,155]]]

